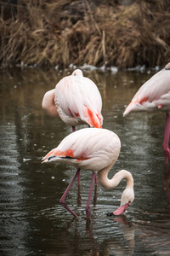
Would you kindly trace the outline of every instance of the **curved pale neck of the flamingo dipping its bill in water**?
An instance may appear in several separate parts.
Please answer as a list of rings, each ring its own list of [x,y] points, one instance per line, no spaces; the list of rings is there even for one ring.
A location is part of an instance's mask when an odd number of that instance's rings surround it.
[[[127,187],[133,188],[133,177],[130,172],[127,172],[126,170],[122,170],[119,172],[116,172],[116,174],[109,179],[108,178],[108,172],[110,171],[111,166],[106,167],[103,170],[100,170],[98,172],[99,177],[99,183],[105,187],[105,189],[114,189],[118,184],[122,181],[123,178],[127,180]]]

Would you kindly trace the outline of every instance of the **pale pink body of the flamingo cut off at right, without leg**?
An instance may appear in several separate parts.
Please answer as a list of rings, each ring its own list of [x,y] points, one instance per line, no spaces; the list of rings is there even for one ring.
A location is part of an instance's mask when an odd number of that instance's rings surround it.
[[[170,71],[162,69],[146,81],[133,96],[123,115],[132,111],[152,111],[170,108]]]

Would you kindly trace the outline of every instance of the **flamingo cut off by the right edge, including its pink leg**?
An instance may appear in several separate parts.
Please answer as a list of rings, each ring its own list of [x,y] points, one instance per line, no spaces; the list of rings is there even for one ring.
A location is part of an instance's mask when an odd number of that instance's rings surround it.
[[[170,62],[146,81],[133,96],[123,115],[133,111],[164,111],[167,113],[163,139],[165,162],[170,160]]]

